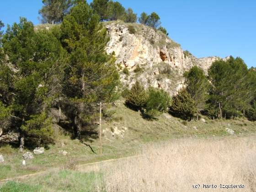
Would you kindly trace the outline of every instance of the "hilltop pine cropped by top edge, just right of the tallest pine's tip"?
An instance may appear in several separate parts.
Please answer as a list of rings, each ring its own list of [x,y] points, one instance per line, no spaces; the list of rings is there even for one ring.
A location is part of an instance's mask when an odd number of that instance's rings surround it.
[[[109,0],[93,0],[91,8],[93,12],[100,16],[100,21],[107,20],[107,6]]]

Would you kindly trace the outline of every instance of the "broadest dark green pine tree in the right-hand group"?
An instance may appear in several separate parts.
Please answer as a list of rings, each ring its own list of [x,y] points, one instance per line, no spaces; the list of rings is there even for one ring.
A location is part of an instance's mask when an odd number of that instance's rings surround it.
[[[227,61],[219,60],[208,70],[209,80],[212,83],[208,107],[219,112],[219,117],[238,117],[248,109],[252,101],[250,81],[247,80],[248,69],[240,58],[230,57]]]

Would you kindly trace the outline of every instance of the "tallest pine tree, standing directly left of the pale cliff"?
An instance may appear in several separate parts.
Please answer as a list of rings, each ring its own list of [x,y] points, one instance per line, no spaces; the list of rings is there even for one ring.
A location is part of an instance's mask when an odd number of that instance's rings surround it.
[[[65,105],[69,106],[66,115],[80,139],[82,128],[87,128],[95,113],[93,103],[110,102],[116,97],[119,75],[114,56],[105,51],[107,30],[85,1],[71,8],[60,29],[60,41],[67,52],[62,81],[68,102]]]

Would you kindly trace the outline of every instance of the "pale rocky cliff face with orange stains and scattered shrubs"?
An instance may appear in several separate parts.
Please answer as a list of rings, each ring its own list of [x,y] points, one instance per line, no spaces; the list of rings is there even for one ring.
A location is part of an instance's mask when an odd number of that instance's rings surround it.
[[[147,26],[122,21],[107,22],[104,25],[110,37],[106,51],[109,54],[115,53],[121,81],[127,87],[139,80],[145,88],[162,87],[173,95],[183,86],[183,73],[186,70],[197,65],[207,73],[211,64],[221,59],[197,59],[183,52],[179,44],[162,32]],[[134,34],[129,32],[129,26],[135,28]],[[122,72],[124,68],[128,69],[129,74]]]

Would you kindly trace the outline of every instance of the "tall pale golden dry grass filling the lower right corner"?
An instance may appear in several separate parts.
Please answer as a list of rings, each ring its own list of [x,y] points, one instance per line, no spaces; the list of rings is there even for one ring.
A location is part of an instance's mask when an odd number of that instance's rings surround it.
[[[138,158],[115,163],[104,173],[107,192],[256,191],[255,136],[181,139],[145,147]],[[203,184],[217,185],[216,189]]]

